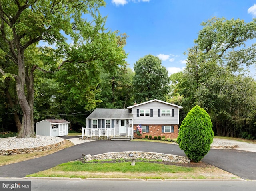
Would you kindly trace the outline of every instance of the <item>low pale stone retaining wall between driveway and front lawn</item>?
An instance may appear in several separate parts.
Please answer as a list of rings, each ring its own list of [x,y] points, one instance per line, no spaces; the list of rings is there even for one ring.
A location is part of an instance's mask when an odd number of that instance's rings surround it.
[[[98,155],[85,155],[85,161],[91,160],[116,160],[116,159],[130,159],[129,154],[132,154],[134,158],[142,158],[148,160],[162,160],[167,162],[177,163],[190,163],[190,159],[185,156],[178,156],[172,154],[155,153],[155,152],[144,152],[144,151],[124,151],[124,152],[108,152]]]

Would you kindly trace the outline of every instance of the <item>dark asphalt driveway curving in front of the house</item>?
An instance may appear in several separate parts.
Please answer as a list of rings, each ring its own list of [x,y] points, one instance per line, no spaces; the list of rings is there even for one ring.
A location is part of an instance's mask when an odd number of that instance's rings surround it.
[[[74,161],[82,154],[101,154],[118,151],[148,151],[186,156],[178,145],[135,141],[92,141],[78,144],[56,153],[0,167],[0,177],[25,177],[58,164]],[[256,180],[255,152],[212,149],[202,161],[238,175]]]

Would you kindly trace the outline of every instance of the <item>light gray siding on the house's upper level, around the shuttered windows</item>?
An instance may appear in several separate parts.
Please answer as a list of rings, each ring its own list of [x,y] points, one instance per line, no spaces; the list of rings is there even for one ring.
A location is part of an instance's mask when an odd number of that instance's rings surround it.
[[[137,109],[152,109],[153,116],[139,116],[137,117]],[[158,117],[158,109],[174,109],[174,116],[160,116]],[[177,106],[164,104],[162,102],[154,101],[147,104],[134,106],[132,108],[133,124],[152,124],[152,125],[165,125],[165,124],[179,124],[179,109]]]

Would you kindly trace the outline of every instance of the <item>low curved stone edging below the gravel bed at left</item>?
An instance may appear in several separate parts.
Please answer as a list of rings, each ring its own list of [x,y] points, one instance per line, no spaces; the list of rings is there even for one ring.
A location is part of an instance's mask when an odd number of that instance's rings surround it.
[[[51,144],[51,145],[34,147],[34,148],[0,150],[0,155],[27,154],[27,153],[45,151],[45,150],[60,147],[62,144],[64,144],[64,141],[65,140],[58,143]]]

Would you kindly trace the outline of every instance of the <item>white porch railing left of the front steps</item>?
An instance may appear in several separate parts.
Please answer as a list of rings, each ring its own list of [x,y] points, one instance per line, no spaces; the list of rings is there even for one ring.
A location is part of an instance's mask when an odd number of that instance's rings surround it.
[[[89,129],[89,128],[83,128],[82,127],[82,138],[84,136],[115,136],[114,135],[114,129],[106,128],[106,129]]]

